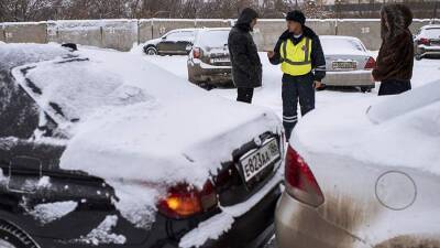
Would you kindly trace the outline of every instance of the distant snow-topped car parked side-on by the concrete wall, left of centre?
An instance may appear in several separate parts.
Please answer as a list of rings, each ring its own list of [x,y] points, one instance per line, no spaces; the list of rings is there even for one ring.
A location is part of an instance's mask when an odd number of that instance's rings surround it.
[[[198,29],[172,30],[161,37],[144,43],[146,55],[187,55]]]

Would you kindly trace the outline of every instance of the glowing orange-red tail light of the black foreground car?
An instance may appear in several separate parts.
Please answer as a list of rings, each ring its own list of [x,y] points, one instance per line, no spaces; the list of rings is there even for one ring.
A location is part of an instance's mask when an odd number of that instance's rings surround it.
[[[179,219],[209,211],[217,204],[217,193],[212,183],[208,181],[202,190],[188,184],[170,187],[157,207],[165,216]]]

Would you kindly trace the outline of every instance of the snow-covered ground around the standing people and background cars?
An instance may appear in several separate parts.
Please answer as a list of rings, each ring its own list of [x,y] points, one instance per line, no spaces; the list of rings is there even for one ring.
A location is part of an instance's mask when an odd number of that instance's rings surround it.
[[[260,55],[263,63],[263,87],[255,90],[253,103],[254,105],[268,107],[273,109],[279,117],[282,117],[282,72],[278,66],[274,66],[268,63],[264,53],[261,53]],[[144,60],[169,71],[178,77],[188,77],[186,56],[144,56]],[[415,62],[413,78],[414,87],[419,87],[436,79],[440,79],[440,60],[424,60]],[[376,88],[369,94],[362,94],[354,88],[319,91],[317,93],[316,107],[327,108],[339,103],[351,101],[360,98],[376,97],[378,86],[380,84],[377,84]],[[237,97],[235,89],[215,89],[210,93],[223,96],[231,100],[234,100]]]

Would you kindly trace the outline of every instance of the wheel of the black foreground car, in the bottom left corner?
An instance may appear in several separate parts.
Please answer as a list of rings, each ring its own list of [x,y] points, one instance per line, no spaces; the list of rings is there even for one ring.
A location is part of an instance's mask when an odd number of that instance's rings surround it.
[[[38,248],[32,238],[20,228],[0,220],[1,248]]]

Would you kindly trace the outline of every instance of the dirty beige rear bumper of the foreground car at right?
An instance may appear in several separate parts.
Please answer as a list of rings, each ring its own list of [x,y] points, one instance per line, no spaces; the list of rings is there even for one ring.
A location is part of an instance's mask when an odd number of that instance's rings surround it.
[[[323,219],[316,208],[283,193],[275,211],[278,248],[369,247],[344,230]]]

